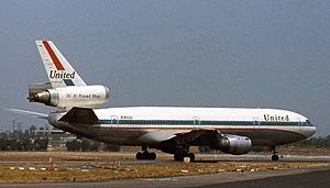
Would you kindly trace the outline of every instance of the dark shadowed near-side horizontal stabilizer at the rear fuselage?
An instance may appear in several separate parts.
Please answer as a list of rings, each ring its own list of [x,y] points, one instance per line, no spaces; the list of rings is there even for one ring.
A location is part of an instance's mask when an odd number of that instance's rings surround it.
[[[99,124],[100,121],[90,108],[74,107],[59,121],[68,122],[70,124]]]

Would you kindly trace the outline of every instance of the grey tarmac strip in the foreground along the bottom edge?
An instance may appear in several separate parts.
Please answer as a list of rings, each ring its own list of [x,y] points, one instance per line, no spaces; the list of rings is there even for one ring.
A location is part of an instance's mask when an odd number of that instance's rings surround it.
[[[131,180],[114,180],[105,183],[46,183],[46,184],[1,184],[0,187],[20,187],[20,188],[168,188],[168,187],[200,187],[200,188],[246,188],[246,187],[330,187],[330,167],[275,170],[258,173],[224,173],[216,175],[185,176],[172,178],[143,178]]]

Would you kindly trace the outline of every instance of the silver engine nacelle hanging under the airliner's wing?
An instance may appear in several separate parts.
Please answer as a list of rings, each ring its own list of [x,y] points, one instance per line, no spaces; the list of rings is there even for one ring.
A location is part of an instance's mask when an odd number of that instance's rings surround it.
[[[252,142],[245,136],[224,135],[218,139],[213,147],[228,154],[241,155],[251,151]]]

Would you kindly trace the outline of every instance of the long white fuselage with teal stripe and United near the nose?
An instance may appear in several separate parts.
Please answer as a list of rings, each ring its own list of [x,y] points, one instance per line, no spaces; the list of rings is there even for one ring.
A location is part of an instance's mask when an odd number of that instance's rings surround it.
[[[253,146],[272,146],[300,141],[316,132],[307,118],[277,109],[127,107],[94,111],[98,124],[59,122],[64,113],[51,113],[48,121],[72,133],[121,145],[153,146],[191,130],[209,130],[248,136]]]

